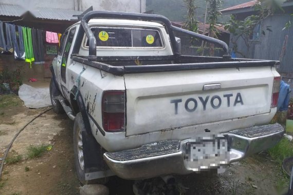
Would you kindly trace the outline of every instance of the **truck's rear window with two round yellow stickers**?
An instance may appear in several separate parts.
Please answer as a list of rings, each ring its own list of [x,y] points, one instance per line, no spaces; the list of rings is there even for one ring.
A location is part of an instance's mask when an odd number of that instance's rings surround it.
[[[91,31],[96,37],[97,47],[162,47],[157,30],[94,27]]]

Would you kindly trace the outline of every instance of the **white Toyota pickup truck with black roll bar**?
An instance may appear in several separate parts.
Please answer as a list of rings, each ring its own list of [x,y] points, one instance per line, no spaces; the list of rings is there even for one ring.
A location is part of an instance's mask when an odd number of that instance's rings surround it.
[[[150,22],[155,21],[155,22]],[[223,57],[180,55],[174,33]],[[219,40],[160,15],[91,11],[62,36],[51,71],[54,111],[74,124],[82,183],[223,167],[277,144],[276,61],[231,59]]]

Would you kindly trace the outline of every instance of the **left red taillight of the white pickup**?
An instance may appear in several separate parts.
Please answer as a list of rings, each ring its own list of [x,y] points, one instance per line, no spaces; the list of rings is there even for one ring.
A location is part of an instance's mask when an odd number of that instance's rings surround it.
[[[103,128],[105,131],[123,131],[125,124],[124,91],[105,91],[102,99]]]

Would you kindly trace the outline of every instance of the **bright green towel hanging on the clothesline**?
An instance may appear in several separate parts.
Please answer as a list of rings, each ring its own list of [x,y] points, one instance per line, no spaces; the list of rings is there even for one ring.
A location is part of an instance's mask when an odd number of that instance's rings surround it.
[[[31,68],[31,62],[34,61],[33,50],[32,50],[32,41],[31,41],[31,29],[23,28],[23,36],[24,36],[24,46],[25,46],[25,61],[29,63]]]

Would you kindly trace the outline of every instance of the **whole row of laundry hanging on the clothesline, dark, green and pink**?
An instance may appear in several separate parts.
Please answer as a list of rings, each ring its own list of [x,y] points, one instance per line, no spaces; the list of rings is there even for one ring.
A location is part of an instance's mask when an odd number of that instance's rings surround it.
[[[0,53],[14,53],[14,60],[44,64],[44,42],[59,44],[61,34],[0,21]]]

